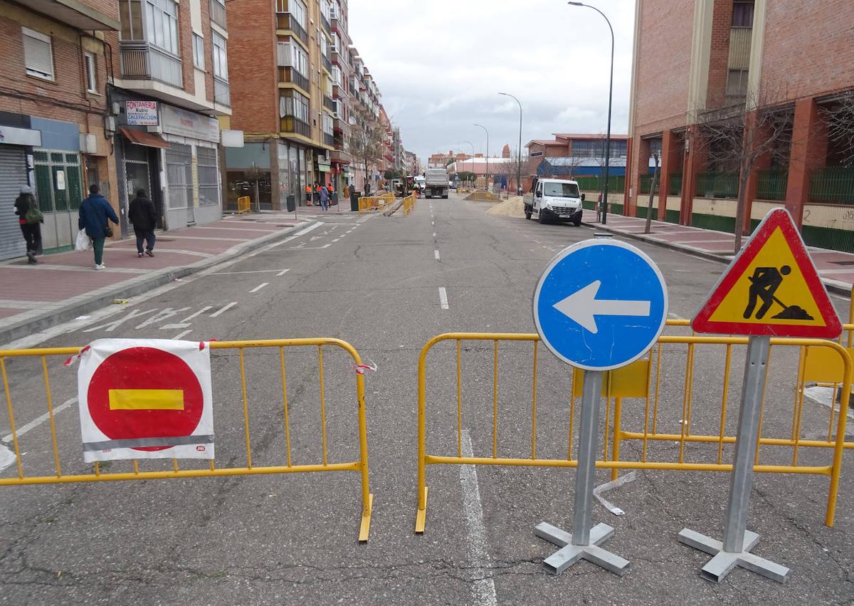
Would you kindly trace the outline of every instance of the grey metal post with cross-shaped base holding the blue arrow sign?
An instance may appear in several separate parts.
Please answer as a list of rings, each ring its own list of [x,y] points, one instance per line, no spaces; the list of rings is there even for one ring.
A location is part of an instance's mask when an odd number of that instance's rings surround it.
[[[561,549],[548,556],[543,564],[554,574],[560,574],[579,560],[587,560],[623,576],[630,563],[600,544],[614,534],[607,524],[593,526],[593,489],[596,480],[596,450],[598,445],[600,403],[602,401],[602,373],[588,371],[584,374],[582,391],[582,419],[578,430],[578,468],[576,469],[575,510],[572,514],[571,534],[541,522],[534,533]]]

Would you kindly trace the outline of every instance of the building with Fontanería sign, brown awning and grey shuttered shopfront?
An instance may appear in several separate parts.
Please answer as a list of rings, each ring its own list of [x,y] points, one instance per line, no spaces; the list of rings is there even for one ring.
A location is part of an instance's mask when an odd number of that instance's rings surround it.
[[[122,233],[130,229],[125,209],[137,189],[154,201],[160,227],[216,221],[223,202],[220,120],[228,126],[231,115],[225,0],[110,4],[120,30],[105,36],[114,83],[106,130]]]

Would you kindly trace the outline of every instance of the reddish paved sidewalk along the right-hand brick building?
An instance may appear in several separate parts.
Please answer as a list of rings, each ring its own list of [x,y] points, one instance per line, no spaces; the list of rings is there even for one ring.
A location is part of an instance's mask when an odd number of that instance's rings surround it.
[[[734,256],[735,237],[732,233],[652,221],[652,232],[645,234],[646,219],[608,215],[607,223],[602,225],[597,221],[593,210],[585,210],[582,221],[594,229],[659,244],[672,250],[682,250],[706,259],[728,263]],[[828,290],[849,297],[851,286],[854,285],[854,255],[839,250],[812,247],[809,250],[813,262],[816,263],[818,274],[821,275]]]

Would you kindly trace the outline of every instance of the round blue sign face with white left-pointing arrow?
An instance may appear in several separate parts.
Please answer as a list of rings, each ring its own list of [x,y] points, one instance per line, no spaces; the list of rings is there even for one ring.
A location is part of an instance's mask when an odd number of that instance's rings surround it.
[[[573,244],[534,291],[534,323],[564,362],[611,370],[643,356],[667,321],[667,285],[648,256],[619,240]]]

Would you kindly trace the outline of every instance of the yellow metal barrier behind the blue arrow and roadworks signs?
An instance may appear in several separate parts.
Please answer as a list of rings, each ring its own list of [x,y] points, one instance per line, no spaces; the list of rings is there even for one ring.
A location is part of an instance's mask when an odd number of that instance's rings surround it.
[[[426,359],[431,348],[443,341],[452,341],[456,344],[456,372],[457,372],[457,453],[456,456],[436,456],[427,454],[426,450],[426,402],[427,402],[427,369]],[[462,451],[462,342],[482,341],[493,344],[493,398],[492,398],[492,456],[463,456]],[[499,344],[501,342],[530,342],[533,348],[532,364],[532,393],[531,393],[531,435],[529,458],[504,458],[498,456],[498,378],[499,378]],[[537,355],[540,338],[536,334],[515,333],[467,333],[455,332],[431,338],[418,358],[418,513],[416,515],[415,531],[424,532],[427,514],[428,487],[426,484],[426,467],[432,464],[454,463],[454,464],[480,464],[480,465],[508,465],[508,466],[534,466],[534,467],[556,467],[571,468],[577,466],[577,460],[572,455],[573,432],[576,417],[576,397],[580,395],[581,374],[576,371],[573,376],[573,387],[570,397],[569,437],[567,444],[567,455],[565,458],[538,458],[536,456],[536,407],[537,407]],[[658,341],[658,354],[655,355],[655,371],[653,373],[652,354],[646,359],[634,362],[629,367],[612,371],[608,374],[603,385],[603,395],[608,398],[608,410],[605,413],[605,452],[603,459],[596,462],[598,468],[617,469],[661,469],[682,471],[731,471],[733,465],[723,462],[722,451],[725,444],[734,444],[735,437],[726,433],[727,400],[729,392],[730,364],[732,362],[733,348],[746,345],[747,338],[734,337],[697,337],[697,336],[662,336]],[[679,433],[658,432],[658,410],[660,402],[661,373],[661,347],[662,345],[685,345],[687,347],[687,363],[685,385],[681,406],[681,419]],[[803,408],[798,406],[797,401],[793,412],[793,433],[787,438],[767,438],[762,436],[760,422],[759,444],[757,446],[756,462],[754,471],[775,474],[817,474],[830,477],[828,489],[828,502],[825,514],[825,524],[830,527],[834,523],[836,498],[839,491],[839,473],[842,465],[842,454],[845,448],[845,421],[848,413],[848,394],[851,391],[851,357],[841,345],[832,341],[810,338],[772,338],[772,348],[788,346],[806,348],[807,350],[833,350],[840,364],[842,375],[842,401],[839,407],[839,415],[836,423],[835,438],[831,436],[828,440],[810,440],[800,438],[800,422],[803,419]],[[721,406],[721,419],[719,432],[717,434],[701,435],[691,431],[691,412],[693,403],[693,365],[696,349],[702,346],[723,346],[725,348],[725,367],[723,382],[723,396]],[[654,376],[654,379],[653,379]],[[651,389],[650,384],[654,385]],[[652,396],[651,396],[652,393]],[[644,397],[646,406],[642,417],[642,429],[635,432],[623,430],[623,398]],[[611,398],[614,398],[614,431],[611,445],[611,460],[608,460],[608,418],[610,416]],[[764,405],[764,402],[763,402]],[[652,410],[652,415],[651,415]],[[831,439],[833,438],[833,439]],[[639,460],[625,460],[622,456],[620,445],[627,440],[639,440],[641,443]],[[649,460],[649,446],[656,442],[667,441],[670,444],[679,445],[676,461],[651,461]],[[686,444],[717,444],[717,456],[714,462],[687,462]],[[790,464],[760,464],[759,450],[762,446],[782,446],[792,450],[792,462]],[[798,465],[798,449],[802,447],[825,447],[833,450],[832,461],[828,465]]]

